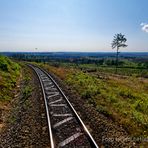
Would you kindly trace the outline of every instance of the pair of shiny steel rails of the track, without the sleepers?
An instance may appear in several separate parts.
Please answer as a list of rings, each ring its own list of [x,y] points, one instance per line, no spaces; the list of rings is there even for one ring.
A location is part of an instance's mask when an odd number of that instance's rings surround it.
[[[78,113],[76,112],[76,110],[74,109],[74,107],[72,106],[72,104],[70,103],[70,101],[68,100],[68,98],[65,96],[64,92],[62,91],[62,89],[59,87],[59,85],[56,83],[56,81],[51,77],[51,75],[43,70],[42,68],[38,67],[38,66],[34,66],[34,65],[31,65],[29,64],[29,66],[31,68],[33,68],[35,70],[34,67],[37,67],[39,68],[42,72],[44,72],[48,77],[49,79],[51,79],[51,81],[54,83],[54,85],[57,87],[57,89],[59,90],[59,92],[61,93],[61,95],[63,96],[63,98],[66,100],[66,102],[68,103],[68,105],[70,106],[70,108],[72,109],[73,113],[75,114],[75,117],[77,119],[77,121],[81,124],[81,126],[83,127],[83,130],[87,136],[87,138],[89,139],[89,142],[91,144],[91,146],[93,148],[99,148],[97,143],[95,142],[95,140],[93,139],[93,137],[91,136],[90,132],[88,131],[87,127],[85,126],[85,124],[83,123],[83,121],[81,120],[80,116],[78,115]],[[47,111],[47,120],[48,120],[48,125],[49,125],[49,135],[50,135],[50,140],[51,140],[51,148],[54,148],[54,143],[53,143],[53,136],[52,136],[52,129],[51,129],[51,122],[50,122],[50,115],[49,115],[49,111],[48,111],[48,105],[47,105],[47,100],[46,100],[46,96],[45,96],[45,92],[44,92],[44,86],[42,84],[42,81],[41,81],[41,78],[39,76],[39,74],[37,73],[37,71],[35,70],[39,80],[40,80],[40,84],[41,84],[41,87],[42,87],[42,91],[43,91],[43,96],[44,96],[44,100],[45,100],[45,107],[46,107],[46,111]]]

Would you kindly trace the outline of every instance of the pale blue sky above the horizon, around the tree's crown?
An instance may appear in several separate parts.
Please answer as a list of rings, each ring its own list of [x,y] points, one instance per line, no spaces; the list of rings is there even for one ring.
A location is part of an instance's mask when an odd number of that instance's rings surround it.
[[[0,0],[0,51],[148,52],[148,0]],[[37,48],[37,49],[35,49]]]

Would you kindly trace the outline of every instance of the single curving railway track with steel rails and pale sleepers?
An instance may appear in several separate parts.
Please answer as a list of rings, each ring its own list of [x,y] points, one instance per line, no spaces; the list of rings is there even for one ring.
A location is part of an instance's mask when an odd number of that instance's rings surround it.
[[[98,148],[72,104],[53,78],[43,69],[29,65],[36,72],[45,101],[50,147]]]

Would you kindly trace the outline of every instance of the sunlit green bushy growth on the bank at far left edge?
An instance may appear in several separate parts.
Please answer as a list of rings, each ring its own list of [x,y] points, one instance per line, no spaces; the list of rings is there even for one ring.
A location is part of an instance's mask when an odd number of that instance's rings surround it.
[[[20,66],[11,59],[0,56],[0,101],[10,100],[12,90],[20,75]]]

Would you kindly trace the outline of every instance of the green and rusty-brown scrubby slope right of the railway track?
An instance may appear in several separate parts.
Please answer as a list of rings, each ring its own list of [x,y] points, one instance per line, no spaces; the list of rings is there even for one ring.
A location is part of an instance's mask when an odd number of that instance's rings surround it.
[[[73,66],[39,64],[60,77],[94,108],[122,125],[132,136],[148,136],[148,80],[104,71],[86,72]],[[87,65],[92,68],[91,65]]]

